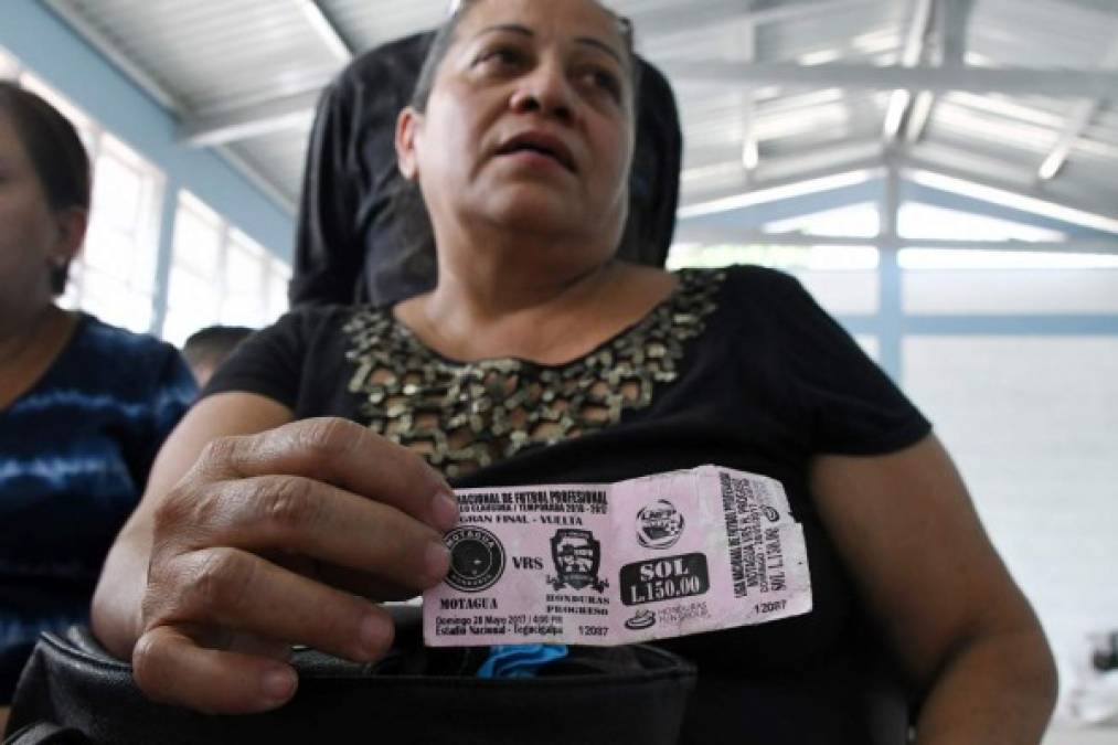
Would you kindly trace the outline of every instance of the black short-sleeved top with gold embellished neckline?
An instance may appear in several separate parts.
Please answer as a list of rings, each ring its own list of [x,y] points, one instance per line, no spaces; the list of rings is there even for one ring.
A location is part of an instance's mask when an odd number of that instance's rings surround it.
[[[793,277],[684,272],[645,319],[560,366],[455,362],[386,310],[302,309],[243,343],[205,393],[224,390],[271,397],[296,418],[367,424],[456,487],[613,482],[704,463],[777,479],[804,528],[813,610],[661,643],[700,669],[684,742],[903,742],[903,691],[878,664],[881,642],[808,473],[818,454],[897,451],[930,425]]]

